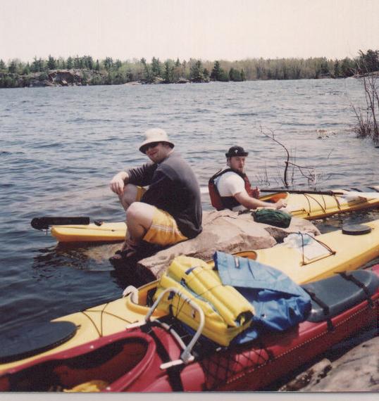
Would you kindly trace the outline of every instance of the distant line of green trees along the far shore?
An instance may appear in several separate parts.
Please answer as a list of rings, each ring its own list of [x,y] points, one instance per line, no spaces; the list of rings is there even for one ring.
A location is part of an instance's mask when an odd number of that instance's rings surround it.
[[[133,61],[94,60],[91,56],[35,58],[32,63],[17,59],[0,60],[0,87],[46,86],[47,84],[125,84],[245,81],[255,79],[318,79],[351,77],[362,69],[379,70],[379,51],[360,51],[356,58],[252,58],[242,61],[160,61],[153,57]],[[56,71],[70,70],[75,74],[67,82]],[[54,73],[55,71],[55,73]]]

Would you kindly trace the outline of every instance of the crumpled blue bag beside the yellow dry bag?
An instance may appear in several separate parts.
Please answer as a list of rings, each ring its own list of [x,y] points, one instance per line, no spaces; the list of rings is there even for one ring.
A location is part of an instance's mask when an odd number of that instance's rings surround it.
[[[308,316],[311,297],[287,274],[256,260],[220,251],[213,260],[223,284],[235,286],[255,311],[251,326],[233,343],[254,340],[265,330],[287,330]]]

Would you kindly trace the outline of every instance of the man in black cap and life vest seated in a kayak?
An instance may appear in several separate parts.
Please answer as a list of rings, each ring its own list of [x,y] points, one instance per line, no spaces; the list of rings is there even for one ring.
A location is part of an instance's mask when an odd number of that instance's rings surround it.
[[[276,203],[259,200],[259,189],[251,189],[251,184],[244,173],[244,164],[248,152],[241,146],[232,146],[225,153],[227,167],[209,179],[209,196],[217,210],[233,211],[256,208],[280,209],[286,206],[284,200]]]

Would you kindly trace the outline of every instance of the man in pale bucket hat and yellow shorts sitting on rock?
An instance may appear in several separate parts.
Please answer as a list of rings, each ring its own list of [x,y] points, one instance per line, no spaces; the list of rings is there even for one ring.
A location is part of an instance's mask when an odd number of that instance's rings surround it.
[[[148,129],[144,135],[139,151],[151,163],[118,172],[109,184],[128,224],[123,249],[111,262],[135,255],[141,241],[169,246],[201,232],[200,188],[192,168],[173,151],[163,129]]]

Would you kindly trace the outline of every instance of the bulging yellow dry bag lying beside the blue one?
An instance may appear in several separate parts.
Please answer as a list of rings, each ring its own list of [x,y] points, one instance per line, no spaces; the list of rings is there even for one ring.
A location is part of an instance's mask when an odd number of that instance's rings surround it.
[[[203,336],[220,345],[230,341],[251,324],[254,307],[232,286],[223,285],[213,266],[196,257],[178,256],[159,281],[154,299],[166,288],[178,288],[204,312]],[[157,309],[172,313],[192,329],[199,327],[199,313],[179,295],[167,293]]]

